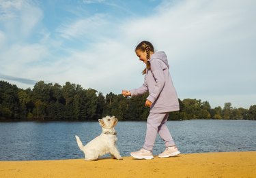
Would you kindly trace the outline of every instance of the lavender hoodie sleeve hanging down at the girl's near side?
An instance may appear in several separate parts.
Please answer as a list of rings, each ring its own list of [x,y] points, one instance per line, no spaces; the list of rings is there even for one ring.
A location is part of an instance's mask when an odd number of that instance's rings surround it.
[[[160,92],[162,91],[162,88],[165,86],[165,74],[163,70],[167,69],[167,67],[162,67],[162,63],[162,60],[157,58],[150,61],[150,70],[152,71],[156,81],[154,90],[150,93],[150,96],[147,97],[147,100],[151,101],[152,103],[156,101]]]

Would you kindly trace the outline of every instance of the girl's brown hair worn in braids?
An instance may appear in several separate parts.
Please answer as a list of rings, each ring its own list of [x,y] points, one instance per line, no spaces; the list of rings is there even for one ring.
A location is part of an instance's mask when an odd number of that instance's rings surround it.
[[[147,64],[146,68],[142,71],[142,74],[144,75],[147,71],[147,69],[150,69],[150,52],[154,52],[154,46],[149,41],[141,41],[135,48],[135,51],[141,50],[142,52],[146,52],[147,54]]]

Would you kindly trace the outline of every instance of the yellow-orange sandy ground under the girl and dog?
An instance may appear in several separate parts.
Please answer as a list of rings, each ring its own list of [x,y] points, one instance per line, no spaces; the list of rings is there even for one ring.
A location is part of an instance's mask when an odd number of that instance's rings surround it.
[[[256,152],[180,154],[153,160],[1,161],[0,177],[256,177]]]

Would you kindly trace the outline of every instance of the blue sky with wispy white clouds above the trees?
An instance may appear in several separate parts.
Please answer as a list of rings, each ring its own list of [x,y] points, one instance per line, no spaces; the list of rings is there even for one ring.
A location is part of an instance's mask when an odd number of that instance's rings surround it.
[[[134,48],[165,51],[178,97],[256,104],[255,0],[0,0],[0,80],[103,94],[143,84]]]

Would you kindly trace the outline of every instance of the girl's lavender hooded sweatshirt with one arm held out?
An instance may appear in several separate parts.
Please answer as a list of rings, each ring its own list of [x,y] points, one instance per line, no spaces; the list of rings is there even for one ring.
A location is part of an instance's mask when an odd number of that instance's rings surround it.
[[[179,101],[169,73],[165,52],[156,52],[150,57],[150,69],[146,71],[144,84],[130,90],[132,96],[150,92],[147,100],[152,102],[150,113],[167,113],[179,111]]]

